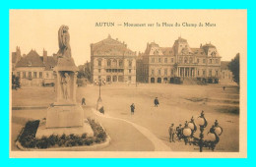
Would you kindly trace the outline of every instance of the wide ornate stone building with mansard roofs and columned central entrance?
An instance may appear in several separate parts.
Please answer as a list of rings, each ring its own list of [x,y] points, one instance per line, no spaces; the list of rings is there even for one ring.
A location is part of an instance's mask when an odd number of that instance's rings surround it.
[[[191,48],[179,37],[172,47],[160,47],[152,42],[142,58],[144,83],[219,83],[221,56],[213,44]]]

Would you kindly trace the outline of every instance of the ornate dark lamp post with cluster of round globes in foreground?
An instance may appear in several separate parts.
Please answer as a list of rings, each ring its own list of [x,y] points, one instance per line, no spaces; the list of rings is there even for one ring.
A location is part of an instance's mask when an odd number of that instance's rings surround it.
[[[204,139],[204,129],[208,125],[204,111],[197,118],[197,124],[200,126],[199,138],[194,137],[194,133],[197,131],[194,118],[192,117],[189,123],[185,123],[182,131],[182,139],[184,139],[185,144],[189,142],[189,144],[198,145],[200,152],[203,151],[203,147],[209,147],[209,149],[211,148],[214,151],[217,143],[220,141],[220,136],[223,134],[223,128],[219,125],[218,120],[215,121],[215,124],[207,134],[207,139]]]

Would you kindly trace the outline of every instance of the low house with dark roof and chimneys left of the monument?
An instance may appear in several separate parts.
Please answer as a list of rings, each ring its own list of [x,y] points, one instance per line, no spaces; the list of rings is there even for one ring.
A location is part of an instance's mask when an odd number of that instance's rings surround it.
[[[17,59],[17,63],[13,67],[13,75],[20,78],[21,85],[53,85],[53,67],[56,65],[57,56],[47,56],[47,51],[43,49],[43,56],[39,56],[35,50],[20,56],[20,48],[18,52],[12,54],[12,59]],[[16,56],[15,56],[16,55]]]

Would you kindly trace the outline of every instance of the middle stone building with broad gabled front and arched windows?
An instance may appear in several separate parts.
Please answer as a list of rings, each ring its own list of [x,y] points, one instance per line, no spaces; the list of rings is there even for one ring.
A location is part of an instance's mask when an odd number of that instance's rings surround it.
[[[92,81],[136,83],[136,52],[110,35],[91,44]]]

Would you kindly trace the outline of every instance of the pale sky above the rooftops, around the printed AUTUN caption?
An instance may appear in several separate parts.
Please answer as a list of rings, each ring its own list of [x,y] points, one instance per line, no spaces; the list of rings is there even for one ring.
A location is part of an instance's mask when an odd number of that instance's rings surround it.
[[[96,23],[111,22],[114,27],[96,27]],[[197,24],[192,27],[156,27],[156,23]],[[155,27],[127,28],[118,24],[155,24]],[[216,27],[198,27],[212,23]],[[90,61],[90,44],[107,37],[125,41],[128,47],[144,52],[147,42],[160,47],[172,47],[181,35],[190,47],[200,43],[214,44],[222,60],[231,60],[236,53],[247,56],[246,10],[10,10],[10,55],[20,46],[22,54],[31,49],[42,56],[58,51],[58,29],[69,27],[72,57],[76,65]]]

